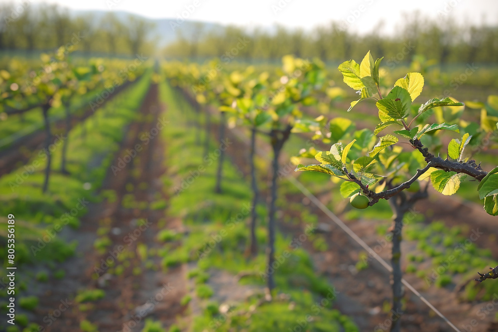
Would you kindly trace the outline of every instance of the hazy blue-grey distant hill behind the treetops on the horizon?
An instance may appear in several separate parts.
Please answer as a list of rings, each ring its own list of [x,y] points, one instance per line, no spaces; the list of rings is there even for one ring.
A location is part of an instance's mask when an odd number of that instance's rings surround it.
[[[135,16],[142,19],[149,20],[155,23],[155,29],[150,31],[149,37],[157,38],[157,46],[162,48],[172,42],[174,42],[178,33],[181,33],[185,38],[191,38],[192,34],[195,31],[195,26],[197,23],[202,23],[203,33],[209,31],[221,30],[223,25],[217,23],[210,22],[199,22],[199,21],[190,21],[185,20],[181,24],[178,24],[176,19],[174,18],[159,18],[159,19],[151,19],[147,17],[143,17],[140,15],[132,14],[126,11],[112,11],[118,19],[120,19],[123,23],[126,23],[129,16]],[[94,22],[97,24],[100,20],[109,13],[109,11],[105,10],[72,10],[70,11],[73,16],[80,15],[88,15],[94,19]]]

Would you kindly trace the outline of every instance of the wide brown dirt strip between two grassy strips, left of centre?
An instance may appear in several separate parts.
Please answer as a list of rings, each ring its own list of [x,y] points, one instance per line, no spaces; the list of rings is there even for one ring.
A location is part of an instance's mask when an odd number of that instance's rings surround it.
[[[148,144],[139,138],[141,133],[154,133],[152,130],[163,111],[164,106],[158,102],[158,87],[151,85],[139,110],[141,121],[134,121],[126,129],[126,137],[112,165],[117,165],[118,158],[136,144],[140,144],[142,150],[116,175],[108,170],[102,189],[115,191],[116,202],[105,200],[90,204],[89,213],[81,220],[81,228],[69,234],[68,240],[79,241],[78,254],[63,263],[66,277],[48,285],[37,313],[39,317],[54,314],[60,301],[66,298],[72,304],[50,326],[40,319],[37,323],[45,327],[45,331],[81,331],[83,320],[96,325],[98,331],[141,331],[146,318],[159,320],[167,327],[183,313],[185,308],[179,305],[179,299],[185,289],[184,267],[164,273],[154,252],[162,247],[156,239],[158,231],[170,227],[167,208],[150,208],[151,202],[168,201],[160,181],[166,172],[163,167],[166,146],[160,135],[150,139]],[[126,200],[134,206],[125,204],[124,207]],[[140,226],[140,220],[146,223]],[[103,230],[111,244],[104,253],[98,253],[93,244]],[[146,259],[138,255],[139,244],[145,244],[148,249]],[[108,268],[106,260],[117,263],[114,268]],[[146,266],[146,262],[150,265]],[[117,273],[117,267],[122,268],[121,274]],[[97,288],[105,291],[103,299],[84,305],[74,301],[78,291]]]

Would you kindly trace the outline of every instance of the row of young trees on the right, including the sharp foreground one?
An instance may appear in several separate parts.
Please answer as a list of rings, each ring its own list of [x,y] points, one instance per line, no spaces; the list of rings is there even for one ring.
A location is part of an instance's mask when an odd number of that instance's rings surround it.
[[[392,242],[391,266],[372,248],[366,244],[362,246],[369,248],[369,256],[378,259],[392,273],[390,331],[399,332],[403,299],[406,299],[403,284],[407,288],[411,287],[402,280],[402,226],[403,221],[406,222],[404,218],[413,211],[414,204],[428,197],[429,182],[443,195],[453,195],[467,179],[478,181],[479,185],[474,187],[477,189],[475,194],[484,199],[484,209],[488,214],[498,216],[498,166],[487,172],[471,159],[474,151],[483,145],[485,137],[489,139],[495,136],[493,133],[498,128],[498,97],[490,96],[488,105],[475,105],[482,108],[480,123],[463,121],[464,104],[449,97],[432,98],[424,104],[415,102],[425,83],[424,77],[418,72],[410,72],[399,78],[394,86],[382,82],[384,77],[379,74],[382,59],[374,61],[369,51],[361,62],[349,60],[338,67],[344,82],[353,90],[361,92],[359,99],[351,103],[349,111],[366,99],[376,101],[379,123],[373,131],[369,128],[356,130],[355,123],[348,118],[335,116],[329,121],[324,115],[314,119],[310,117],[313,114],[311,110],[320,103],[330,83],[326,80],[323,63],[316,59],[309,62],[291,55],[284,56],[282,69],[273,72],[257,72],[253,66],[247,67],[244,72],[224,71],[216,60],[204,66],[168,63],[164,68],[169,83],[181,87],[189,100],[195,99],[198,102],[193,103],[196,110],[203,111],[206,119],[209,118],[209,107],[215,106],[220,111],[220,128],[224,126],[227,116],[233,116],[234,121],[230,123],[242,124],[250,130],[251,145],[248,152],[254,195],[252,211],[258,202],[254,167],[255,136],[265,134],[269,138],[273,158],[271,185],[268,188],[267,264],[265,273],[258,271],[257,265],[254,265],[253,272],[267,282],[266,300],[272,299],[275,289],[278,292],[274,276],[279,274],[275,257],[281,254],[275,252],[275,224],[278,219],[275,203],[277,179],[281,177],[278,157],[291,133],[300,133],[303,141],[311,138],[307,141],[307,148],[301,149],[299,155],[291,158],[291,162],[297,164],[296,171],[322,172],[340,179],[340,188],[336,189],[344,198],[350,198],[351,205],[357,209],[366,209],[380,200],[389,200],[393,214],[388,237]],[[206,106],[200,108],[199,104]],[[468,104],[469,109],[475,107],[472,102]],[[392,131],[392,128],[399,130]],[[456,138],[451,139],[447,149],[441,149],[443,145],[446,146],[439,136],[442,130],[459,133],[456,136],[453,134]],[[384,131],[382,136],[379,135],[381,131]],[[208,125],[206,138],[209,132]],[[220,131],[220,143],[223,142],[222,133]],[[318,143],[317,147],[321,143],[332,145],[328,151],[317,151],[315,146],[309,146],[311,141]],[[411,148],[404,149],[402,145],[405,144]],[[471,147],[472,152],[469,151]],[[447,155],[446,159],[443,159],[444,155]],[[320,164],[304,166],[299,163],[301,159],[316,160]],[[215,192],[220,192],[223,159],[220,157],[218,161],[220,168]],[[420,181],[427,181],[423,189]],[[249,224],[248,252],[251,254],[257,253],[254,240],[254,227],[258,222],[256,217],[257,214],[253,215]],[[461,258],[456,261],[464,263]],[[496,269],[498,267],[486,275],[479,273],[480,279],[476,280],[481,282],[495,278]],[[410,290],[414,291],[413,288]],[[428,305],[444,318],[437,309]],[[451,322],[447,323],[458,331]]]

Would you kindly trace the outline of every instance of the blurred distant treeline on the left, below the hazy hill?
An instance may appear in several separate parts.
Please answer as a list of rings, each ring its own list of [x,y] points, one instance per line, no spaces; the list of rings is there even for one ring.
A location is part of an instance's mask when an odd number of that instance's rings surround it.
[[[75,46],[79,51],[99,55],[150,54],[154,50],[150,32],[154,24],[130,15],[110,12],[102,17],[73,15],[56,4],[0,5],[0,51],[53,51]]]

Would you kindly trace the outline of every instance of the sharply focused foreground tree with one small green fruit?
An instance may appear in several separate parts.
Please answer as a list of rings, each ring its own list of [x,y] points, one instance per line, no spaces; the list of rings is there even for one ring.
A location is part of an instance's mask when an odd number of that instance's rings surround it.
[[[463,127],[453,123],[458,122],[455,113],[463,111],[462,103],[446,97],[433,98],[422,105],[414,104],[424,86],[420,73],[408,73],[398,79],[383,97],[378,74],[381,60],[374,61],[369,51],[360,64],[350,60],[339,66],[344,82],[360,95],[357,101],[351,103],[348,111],[366,99],[375,100],[380,123],[374,131],[353,131],[352,126],[346,125],[348,119],[335,118],[329,128],[320,131],[326,141],[336,141],[330,151],[315,153],[311,149],[303,152],[301,157],[314,157],[320,164],[300,164],[296,170],[322,172],[343,180],[341,194],[344,197],[354,196],[351,204],[357,208],[373,206],[381,199],[389,200],[394,220],[391,228],[391,331],[400,331],[403,296],[400,267],[402,221],[404,214],[417,200],[427,197],[428,183],[423,190],[406,192],[413,186],[418,187],[419,180],[430,179],[434,189],[443,195],[453,195],[460,183],[470,177],[480,182],[477,191],[480,198],[484,199],[486,212],[497,216],[498,167],[486,172],[474,160],[464,157],[464,148],[472,138],[475,125],[466,122]],[[459,109],[452,111],[453,108]],[[437,123],[428,121],[432,114]],[[387,127],[395,127],[396,130],[377,139],[375,136]],[[437,153],[438,145],[441,144],[437,134],[441,130],[463,132],[462,136],[450,141],[445,159]],[[408,148],[403,149],[402,145]]]

